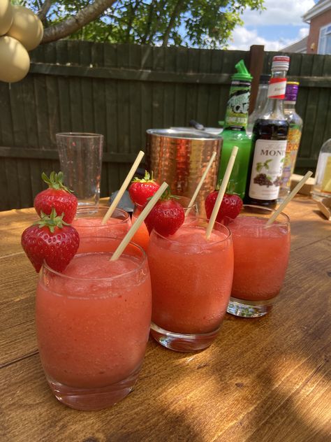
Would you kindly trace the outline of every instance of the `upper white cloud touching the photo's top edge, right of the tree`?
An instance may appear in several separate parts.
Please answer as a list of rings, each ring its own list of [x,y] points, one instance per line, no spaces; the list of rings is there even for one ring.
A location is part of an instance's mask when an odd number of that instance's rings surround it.
[[[242,20],[245,26],[270,24],[302,24],[302,15],[315,5],[314,0],[265,0],[266,10],[261,13],[245,10]]]

